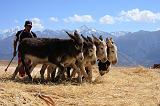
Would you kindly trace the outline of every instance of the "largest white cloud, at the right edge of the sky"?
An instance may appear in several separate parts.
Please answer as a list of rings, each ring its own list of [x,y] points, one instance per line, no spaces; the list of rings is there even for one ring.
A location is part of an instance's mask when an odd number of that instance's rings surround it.
[[[120,20],[123,21],[138,21],[138,22],[156,22],[160,20],[160,13],[154,13],[149,10],[140,11],[132,9],[129,11],[121,11]]]

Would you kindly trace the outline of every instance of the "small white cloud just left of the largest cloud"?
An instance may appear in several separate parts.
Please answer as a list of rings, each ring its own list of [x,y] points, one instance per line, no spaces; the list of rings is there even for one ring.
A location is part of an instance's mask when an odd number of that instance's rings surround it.
[[[110,15],[105,15],[99,19],[101,24],[114,24],[114,18]]]

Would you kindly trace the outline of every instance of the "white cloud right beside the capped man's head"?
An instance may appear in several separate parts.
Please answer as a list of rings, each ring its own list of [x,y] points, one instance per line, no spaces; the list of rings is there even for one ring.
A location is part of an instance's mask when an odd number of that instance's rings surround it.
[[[42,30],[44,26],[42,25],[42,22],[39,18],[33,18],[31,19],[32,24],[33,24],[33,29],[35,30]]]

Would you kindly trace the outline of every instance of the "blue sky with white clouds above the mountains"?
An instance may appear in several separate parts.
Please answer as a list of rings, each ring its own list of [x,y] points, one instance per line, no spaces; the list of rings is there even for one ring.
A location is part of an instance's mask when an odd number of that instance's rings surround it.
[[[0,32],[33,22],[33,30],[160,30],[160,0],[1,0]]]

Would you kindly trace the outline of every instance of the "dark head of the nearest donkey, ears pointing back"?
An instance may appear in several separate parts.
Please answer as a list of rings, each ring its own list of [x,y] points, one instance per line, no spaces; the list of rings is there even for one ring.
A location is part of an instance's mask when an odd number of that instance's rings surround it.
[[[78,55],[77,55],[77,60],[83,60],[84,56],[83,56],[83,39],[80,37],[80,35],[78,34],[77,31],[74,31],[73,34],[68,33],[66,31],[66,33],[68,34],[68,36],[73,40],[74,42],[74,48],[76,49]]]

